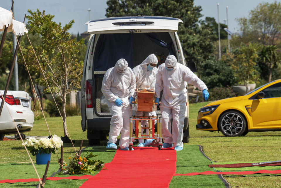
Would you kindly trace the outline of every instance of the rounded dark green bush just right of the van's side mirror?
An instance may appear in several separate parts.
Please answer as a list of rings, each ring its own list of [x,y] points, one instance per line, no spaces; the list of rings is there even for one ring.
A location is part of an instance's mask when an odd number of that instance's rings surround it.
[[[235,83],[233,70],[228,63],[215,58],[202,62],[201,67],[204,74],[201,79],[209,89],[214,87],[226,87]]]

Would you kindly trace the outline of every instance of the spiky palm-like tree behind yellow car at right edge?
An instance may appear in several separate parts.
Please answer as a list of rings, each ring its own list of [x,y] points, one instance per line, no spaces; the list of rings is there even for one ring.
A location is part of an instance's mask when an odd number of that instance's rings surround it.
[[[268,82],[271,81],[273,70],[281,66],[279,53],[277,46],[272,45],[263,46],[259,53],[260,63],[265,65],[268,72]]]

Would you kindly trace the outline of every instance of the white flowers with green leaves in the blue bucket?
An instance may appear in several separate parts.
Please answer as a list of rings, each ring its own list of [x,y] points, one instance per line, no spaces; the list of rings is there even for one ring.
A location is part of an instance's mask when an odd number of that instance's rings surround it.
[[[25,146],[28,151],[31,152],[33,156],[43,153],[55,153],[55,147],[60,148],[63,145],[63,142],[60,137],[54,135],[52,138],[40,138],[40,140],[35,139],[34,137],[30,137],[26,139]],[[24,147],[22,144],[22,147]],[[55,145],[55,147],[54,147]]]

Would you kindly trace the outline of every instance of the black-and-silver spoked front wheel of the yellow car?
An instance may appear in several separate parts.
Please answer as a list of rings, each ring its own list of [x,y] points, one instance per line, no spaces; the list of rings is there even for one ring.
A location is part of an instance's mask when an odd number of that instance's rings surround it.
[[[219,130],[225,136],[242,136],[246,130],[246,120],[238,111],[228,111],[219,118]]]

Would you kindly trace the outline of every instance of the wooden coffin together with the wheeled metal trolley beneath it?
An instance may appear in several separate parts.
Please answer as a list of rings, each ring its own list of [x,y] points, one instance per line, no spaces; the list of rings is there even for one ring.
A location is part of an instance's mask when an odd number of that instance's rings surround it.
[[[135,92],[135,102],[132,104],[132,110],[152,112],[157,109],[155,101],[154,89],[137,88]],[[141,121],[148,121],[148,127],[141,127]],[[157,121],[157,135],[154,132],[155,121]],[[135,134],[132,133],[132,124],[134,122]],[[135,139],[154,139],[152,147],[162,147],[161,135],[161,115],[156,116],[134,116],[130,117],[130,142],[129,150],[132,150]],[[148,129],[148,134],[142,134],[142,129]]]

